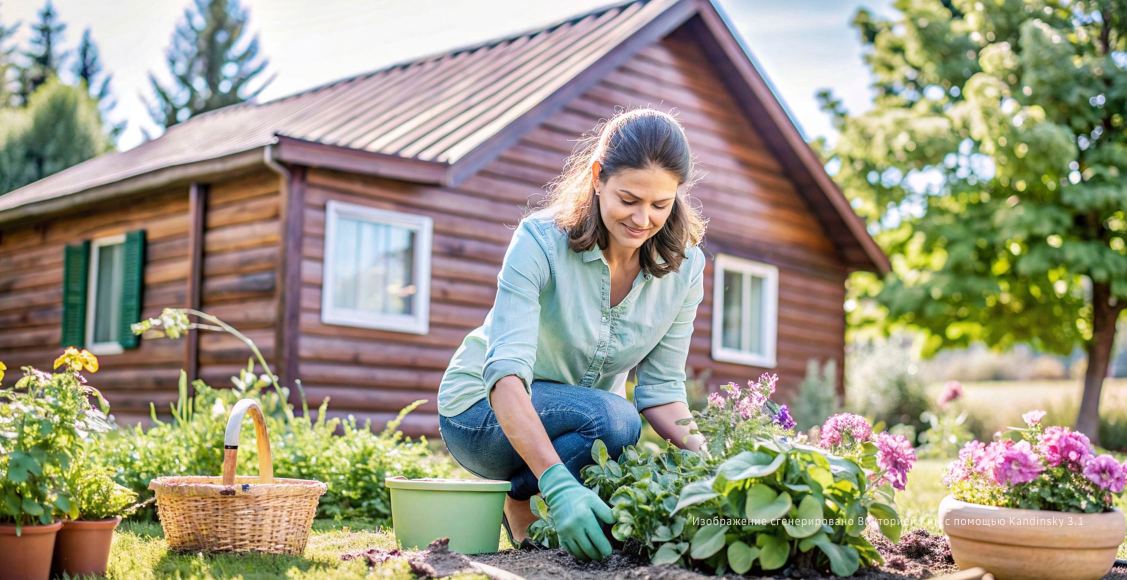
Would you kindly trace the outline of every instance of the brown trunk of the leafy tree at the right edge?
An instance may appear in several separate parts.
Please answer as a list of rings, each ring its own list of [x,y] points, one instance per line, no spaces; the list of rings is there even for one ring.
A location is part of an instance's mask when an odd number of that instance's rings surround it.
[[[1084,374],[1084,394],[1080,401],[1076,430],[1100,445],[1100,393],[1103,377],[1111,360],[1111,345],[1116,339],[1116,320],[1124,309],[1121,302],[1111,296],[1108,283],[1092,284],[1092,340],[1088,343],[1088,372]]]

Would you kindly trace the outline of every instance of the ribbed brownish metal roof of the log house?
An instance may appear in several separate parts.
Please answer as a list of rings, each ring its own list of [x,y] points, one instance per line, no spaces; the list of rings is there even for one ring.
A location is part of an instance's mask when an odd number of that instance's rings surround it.
[[[196,115],[134,149],[2,195],[0,212],[260,148],[278,136],[452,164],[677,1],[620,2],[290,97]]]

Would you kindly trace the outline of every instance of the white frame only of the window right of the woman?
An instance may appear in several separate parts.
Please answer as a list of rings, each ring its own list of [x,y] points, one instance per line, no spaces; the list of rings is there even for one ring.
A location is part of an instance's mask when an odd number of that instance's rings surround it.
[[[724,346],[724,273],[749,274],[763,279],[763,354],[744,353]],[[744,284],[744,292],[751,285]],[[742,302],[743,303],[743,302]],[[749,328],[744,312],[745,328]],[[717,255],[712,269],[712,359],[722,363],[774,368],[779,330],[779,267],[726,253]]]

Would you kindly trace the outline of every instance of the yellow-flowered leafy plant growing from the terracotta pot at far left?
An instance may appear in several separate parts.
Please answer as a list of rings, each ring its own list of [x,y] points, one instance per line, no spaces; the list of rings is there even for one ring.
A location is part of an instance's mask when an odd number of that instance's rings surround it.
[[[0,390],[0,521],[20,527],[50,524],[54,516],[78,516],[78,505],[64,485],[64,474],[82,456],[83,439],[106,431],[103,410],[90,405],[96,389],[81,369],[96,372],[98,359],[71,347],[55,360],[57,373],[23,367],[24,377]],[[2,375],[0,375],[2,376]]]

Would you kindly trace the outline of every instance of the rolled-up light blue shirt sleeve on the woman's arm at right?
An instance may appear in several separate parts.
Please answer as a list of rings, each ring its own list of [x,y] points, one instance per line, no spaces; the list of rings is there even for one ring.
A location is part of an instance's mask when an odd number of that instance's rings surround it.
[[[638,363],[638,384],[635,386],[635,407],[641,411],[649,407],[681,401],[685,396],[685,360],[693,338],[696,306],[704,298],[704,253],[693,249],[692,277],[681,311],[657,346]],[[689,260],[686,260],[689,261]]]

